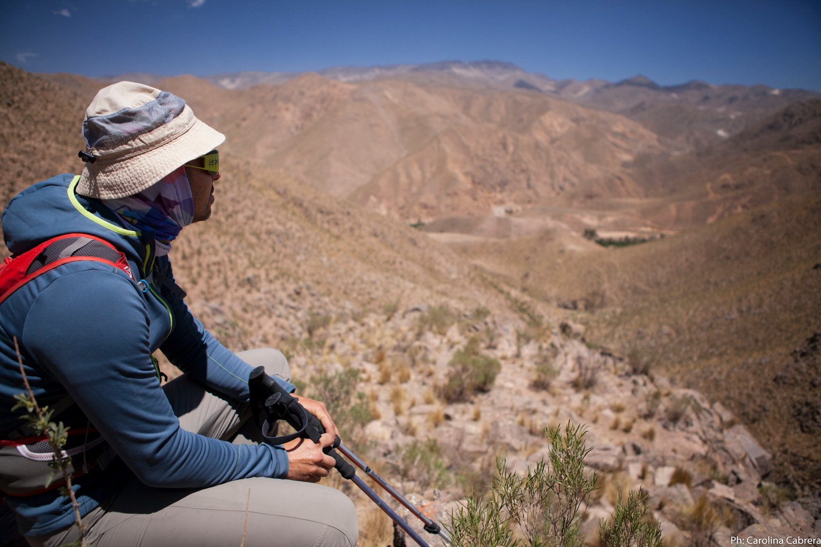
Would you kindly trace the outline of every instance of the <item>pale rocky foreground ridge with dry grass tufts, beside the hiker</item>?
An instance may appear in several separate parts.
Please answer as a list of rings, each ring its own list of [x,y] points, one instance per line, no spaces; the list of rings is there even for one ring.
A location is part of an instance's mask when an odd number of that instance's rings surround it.
[[[544,427],[572,423],[586,426],[592,451],[585,461],[600,476],[585,507],[588,545],[597,545],[599,521],[612,515],[618,496],[638,488],[670,545],[821,534],[819,515],[778,498],[780,490],[767,481],[773,458],[720,403],[591,349],[583,327],[571,321],[528,339],[516,318],[477,320],[472,311],[453,315],[449,326],[431,326],[432,312],[417,305],[334,322],[310,335],[305,330],[321,347],[300,346],[291,365],[305,380],[360,372],[357,389],[374,417],[357,433],[367,440],[366,459],[443,522],[466,481],[474,487],[489,481],[496,455],[506,454],[508,467],[525,472],[548,454]],[[442,397],[448,363],[474,337],[501,371],[488,393],[448,404]],[[553,376],[536,387],[545,363]],[[441,467],[406,462],[409,447],[425,442],[438,447],[433,455]],[[373,509],[368,503],[360,510]]]

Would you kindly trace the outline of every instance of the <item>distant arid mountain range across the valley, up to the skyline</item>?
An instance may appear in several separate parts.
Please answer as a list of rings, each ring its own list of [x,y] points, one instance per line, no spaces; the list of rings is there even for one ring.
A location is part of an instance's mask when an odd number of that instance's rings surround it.
[[[613,209],[613,199],[669,194],[671,187],[690,185],[670,179],[692,153],[727,146],[727,140],[737,143],[732,135],[814,97],[800,90],[703,82],[663,88],[641,77],[579,88],[578,82],[529,75],[500,62],[324,74],[221,75],[211,78],[219,84],[213,86],[185,76],[163,84],[193,97],[192,103],[208,104],[209,117],[230,137],[228,146],[244,157],[410,222],[491,215],[499,207],[535,209],[545,217],[557,203],[587,208],[601,202]],[[85,96],[100,85],[71,75],[48,78]],[[736,154],[732,145],[724,149]],[[650,160],[657,157],[663,160]],[[620,212],[621,204],[608,221],[634,230],[694,226],[688,220],[693,200],[745,184],[735,182],[739,175],[728,175],[732,182],[699,177],[701,191],[687,189],[675,205],[677,221],[655,222],[649,212],[651,222],[636,225],[635,211]],[[715,203],[706,217],[715,220],[745,207],[749,193],[734,194]],[[597,219],[599,228],[603,221]]]

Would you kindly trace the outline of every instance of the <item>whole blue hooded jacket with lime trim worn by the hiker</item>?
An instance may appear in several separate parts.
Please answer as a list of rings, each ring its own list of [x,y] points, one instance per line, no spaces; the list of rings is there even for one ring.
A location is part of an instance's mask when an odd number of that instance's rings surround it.
[[[123,228],[99,200],[77,195],[78,179],[57,175],[11,200],[2,215],[11,253],[56,235],[96,235],[126,254],[137,279],[148,278],[152,269],[173,279],[167,256],[154,258],[154,235]],[[77,428],[90,422],[125,463],[76,480],[82,515],[131,473],[147,485],[170,488],[287,474],[287,454],[280,447],[235,445],[181,429],[154,370],[155,350],[187,375],[241,401],[249,399],[251,368],[214,339],[171,289],[153,283],[140,293],[125,272],[79,261],[11,294],[0,304],[0,439],[21,425],[21,411],[11,412],[14,395],[25,391],[15,337],[38,403],[53,405],[71,395],[76,407],[57,419]],[[26,536],[73,522],[71,503],[57,490],[7,497],[7,503]]]

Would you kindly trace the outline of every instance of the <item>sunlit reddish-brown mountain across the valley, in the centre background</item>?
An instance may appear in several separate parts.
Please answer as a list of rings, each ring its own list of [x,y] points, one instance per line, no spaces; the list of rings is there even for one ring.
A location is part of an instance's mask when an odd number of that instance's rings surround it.
[[[360,84],[274,163],[335,195],[427,221],[550,198],[660,149],[624,118],[534,93],[375,82]],[[629,181],[603,186],[635,191]]]

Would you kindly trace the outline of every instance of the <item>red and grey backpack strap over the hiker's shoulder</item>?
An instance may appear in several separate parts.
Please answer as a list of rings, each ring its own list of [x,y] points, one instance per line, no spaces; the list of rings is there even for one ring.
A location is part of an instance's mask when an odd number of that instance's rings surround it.
[[[135,280],[126,255],[105,239],[89,234],[57,235],[0,264],[0,303],[35,277],[79,260],[103,262]]]

